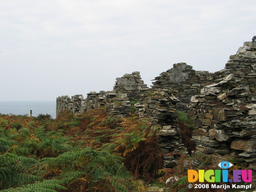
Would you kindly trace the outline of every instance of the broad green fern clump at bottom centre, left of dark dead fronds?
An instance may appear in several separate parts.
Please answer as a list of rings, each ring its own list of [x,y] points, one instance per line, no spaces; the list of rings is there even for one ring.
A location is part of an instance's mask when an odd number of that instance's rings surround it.
[[[84,148],[76,152],[66,152],[56,158],[44,158],[42,163],[46,165],[46,170],[53,170],[62,167],[66,170],[61,174],[62,182],[68,186],[78,185],[86,182],[91,187],[106,180],[109,185],[112,183],[124,182],[130,178],[129,172],[121,162],[121,158],[107,151],[96,151],[92,148]],[[122,171],[120,171],[122,170]]]

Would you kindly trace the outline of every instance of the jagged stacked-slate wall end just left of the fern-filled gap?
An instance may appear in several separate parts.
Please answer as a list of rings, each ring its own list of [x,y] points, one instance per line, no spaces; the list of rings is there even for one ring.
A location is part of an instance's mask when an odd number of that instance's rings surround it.
[[[148,93],[152,93],[150,90]],[[159,136],[159,147],[164,154],[180,152],[186,154],[177,124],[176,104],[179,100],[170,89],[155,90],[146,96],[141,103],[135,104],[140,117],[146,117],[153,124],[160,125],[156,132]]]

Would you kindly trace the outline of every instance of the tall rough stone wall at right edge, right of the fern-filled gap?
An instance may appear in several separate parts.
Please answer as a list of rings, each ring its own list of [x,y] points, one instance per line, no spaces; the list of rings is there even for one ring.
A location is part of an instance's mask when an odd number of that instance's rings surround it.
[[[256,170],[256,42],[245,42],[214,78],[191,98],[196,149]]]

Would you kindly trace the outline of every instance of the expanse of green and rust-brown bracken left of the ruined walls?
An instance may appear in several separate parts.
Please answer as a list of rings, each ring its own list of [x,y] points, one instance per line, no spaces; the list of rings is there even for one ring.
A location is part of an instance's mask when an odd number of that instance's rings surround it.
[[[156,126],[103,109],[0,115],[0,191],[144,191],[162,165]]]

